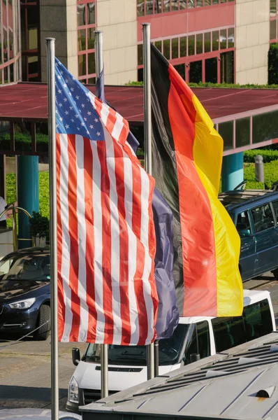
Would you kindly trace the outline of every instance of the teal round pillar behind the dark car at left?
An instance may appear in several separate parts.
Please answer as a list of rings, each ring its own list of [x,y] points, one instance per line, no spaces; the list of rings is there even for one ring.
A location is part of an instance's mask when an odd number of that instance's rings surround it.
[[[38,156],[17,156],[17,205],[32,215],[38,211]],[[30,238],[28,216],[18,212],[18,238]],[[18,241],[18,248],[32,246],[30,241]]]

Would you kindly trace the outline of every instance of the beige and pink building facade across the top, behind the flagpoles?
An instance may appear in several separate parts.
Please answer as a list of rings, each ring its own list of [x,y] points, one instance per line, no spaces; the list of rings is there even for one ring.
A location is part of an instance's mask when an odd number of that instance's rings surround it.
[[[45,38],[82,83],[95,83],[103,30],[105,83],[142,80],[142,23],[188,82],[268,83],[278,0],[0,0],[0,84],[46,80]]]

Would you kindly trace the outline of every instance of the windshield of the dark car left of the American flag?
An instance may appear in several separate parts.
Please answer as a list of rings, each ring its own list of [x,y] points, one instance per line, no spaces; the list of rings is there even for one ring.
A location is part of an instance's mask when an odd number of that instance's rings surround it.
[[[0,261],[1,280],[50,280],[50,255],[13,255]]]

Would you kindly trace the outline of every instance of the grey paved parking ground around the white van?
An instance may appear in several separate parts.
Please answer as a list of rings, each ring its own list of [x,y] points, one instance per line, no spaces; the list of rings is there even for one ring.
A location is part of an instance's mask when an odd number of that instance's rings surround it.
[[[278,281],[271,273],[244,283],[244,288],[270,290],[278,318]],[[68,381],[75,369],[71,348],[86,344],[59,343],[60,409],[65,409]],[[45,342],[0,340],[0,408],[50,408],[50,338]]]

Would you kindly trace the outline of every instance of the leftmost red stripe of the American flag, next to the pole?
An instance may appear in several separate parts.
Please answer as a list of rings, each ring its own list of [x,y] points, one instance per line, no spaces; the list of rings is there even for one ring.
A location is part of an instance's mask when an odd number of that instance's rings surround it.
[[[60,136],[56,134],[56,171],[57,171],[57,269],[58,269],[58,339],[61,341],[61,337],[64,332],[65,314],[66,308],[64,304],[64,289],[63,280],[61,278],[61,244],[62,244],[62,232],[61,232],[61,197],[60,197],[60,185],[61,185],[61,145]]]

